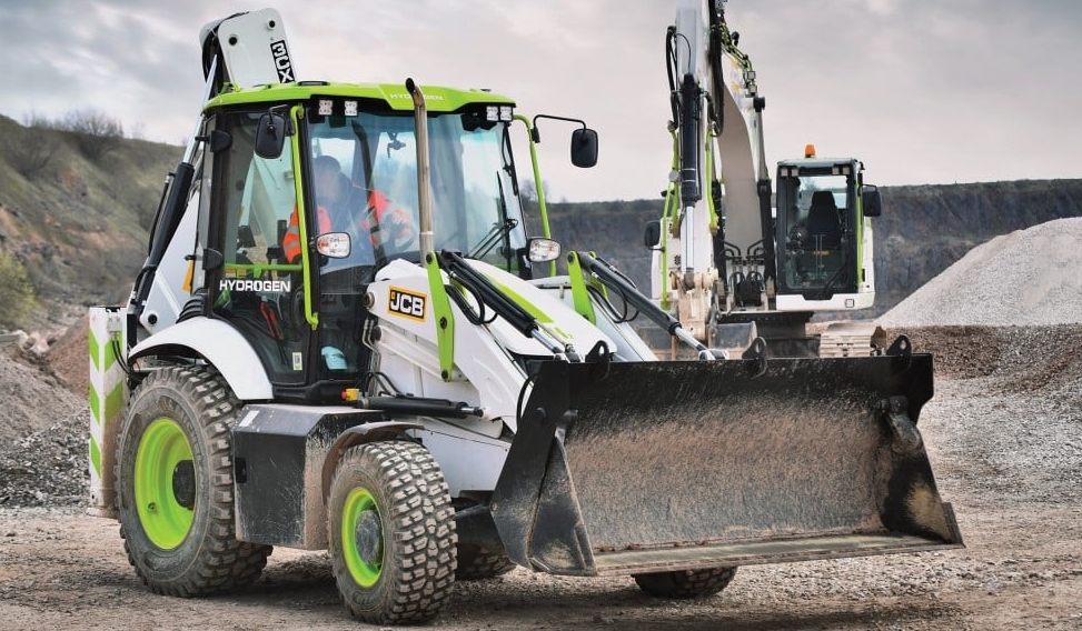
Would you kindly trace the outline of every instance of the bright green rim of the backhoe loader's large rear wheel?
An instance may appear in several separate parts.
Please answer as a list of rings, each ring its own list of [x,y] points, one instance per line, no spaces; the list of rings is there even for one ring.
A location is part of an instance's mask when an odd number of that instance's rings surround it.
[[[181,505],[172,491],[172,472],[191,460],[191,444],[180,425],[170,419],[150,423],[136,452],[135,495],[139,523],[147,538],[162,550],[172,550],[191,530],[195,510]]]

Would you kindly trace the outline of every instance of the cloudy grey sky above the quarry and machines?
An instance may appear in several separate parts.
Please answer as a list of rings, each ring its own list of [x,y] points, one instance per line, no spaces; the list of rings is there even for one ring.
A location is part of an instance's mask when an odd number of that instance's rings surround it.
[[[665,188],[676,0],[0,0],[0,114],[103,112],[185,144],[200,29],[264,7],[298,79],[487,88],[519,113],[584,119],[593,169],[569,164],[573,127],[543,136],[552,201]],[[1082,178],[1082,2],[731,0],[725,14],[766,98],[771,163],[814,143],[881,186]]]

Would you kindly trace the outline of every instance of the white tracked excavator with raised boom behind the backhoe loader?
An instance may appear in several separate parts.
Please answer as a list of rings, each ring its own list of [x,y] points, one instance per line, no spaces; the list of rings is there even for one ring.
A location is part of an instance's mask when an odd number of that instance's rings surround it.
[[[708,345],[763,337],[773,355],[874,352],[874,324],[810,332],[815,312],[872,307],[878,190],[855,158],[777,163],[764,151],[766,99],[725,1],[677,0],[665,38],[673,160],[662,219],[651,222],[652,297]],[[875,333],[880,333],[875,335]]]

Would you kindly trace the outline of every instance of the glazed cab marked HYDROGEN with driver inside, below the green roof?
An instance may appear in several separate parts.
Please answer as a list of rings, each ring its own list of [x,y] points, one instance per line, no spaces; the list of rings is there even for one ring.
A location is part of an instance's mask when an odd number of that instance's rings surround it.
[[[208,117],[219,140],[207,152],[201,214],[212,218],[208,250],[222,260],[204,291],[211,317],[249,339],[281,400],[365,385],[367,283],[396,259],[420,260],[414,111],[378,96],[312,93]],[[429,111],[433,243],[530,278],[512,117],[500,101]],[[340,169],[335,200],[317,190],[316,166],[328,157]],[[212,177],[227,184],[211,187]]]

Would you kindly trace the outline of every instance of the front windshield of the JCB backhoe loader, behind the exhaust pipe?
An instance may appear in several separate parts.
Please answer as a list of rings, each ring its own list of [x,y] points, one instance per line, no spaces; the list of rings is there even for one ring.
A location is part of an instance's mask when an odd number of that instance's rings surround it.
[[[385,256],[416,256],[417,239],[410,239],[403,227],[419,226],[413,112],[353,117],[312,112],[309,120],[314,182],[318,186],[315,168],[320,157],[332,157],[341,171],[339,187],[349,191],[353,206],[364,207],[360,214],[357,208],[347,213],[345,221],[351,220],[351,226],[332,217],[332,230],[350,232],[355,250],[368,247],[368,240]],[[468,114],[429,113],[428,118],[434,247],[510,270],[518,264],[526,238],[505,132],[506,123],[478,123]],[[330,206],[318,190],[316,199],[318,206]]]

